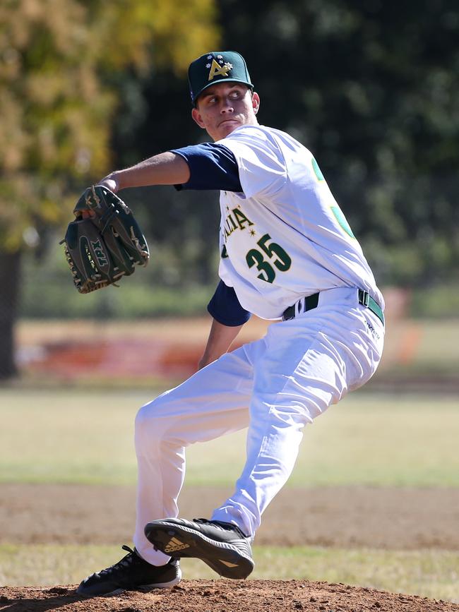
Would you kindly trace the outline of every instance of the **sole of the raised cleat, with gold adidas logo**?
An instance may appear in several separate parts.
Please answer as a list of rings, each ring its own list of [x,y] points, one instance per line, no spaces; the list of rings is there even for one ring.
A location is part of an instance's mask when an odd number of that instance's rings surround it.
[[[145,536],[158,551],[174,558],[198,558],[217,574],[242,580],[254,570],[254,560],[245,556],[237,546],[220,542],[201,532],[174,523],[148,524]]]

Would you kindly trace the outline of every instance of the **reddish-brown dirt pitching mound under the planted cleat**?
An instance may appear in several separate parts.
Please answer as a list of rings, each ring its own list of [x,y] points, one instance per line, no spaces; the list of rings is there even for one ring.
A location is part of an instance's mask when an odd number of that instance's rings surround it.
[[[85,599],[74,586],[0,588],[2,612],[458,612],[458,604],[305,580],[184,580],[165,591]]]

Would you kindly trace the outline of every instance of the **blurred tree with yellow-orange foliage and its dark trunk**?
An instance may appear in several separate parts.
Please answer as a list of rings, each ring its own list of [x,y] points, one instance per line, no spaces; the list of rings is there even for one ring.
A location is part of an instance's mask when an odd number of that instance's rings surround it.
[[[20,253],[109,169],[122,73],[167,66],[217,40],[213,0],[5,0],[0,5],[0,378],[15,372]]]

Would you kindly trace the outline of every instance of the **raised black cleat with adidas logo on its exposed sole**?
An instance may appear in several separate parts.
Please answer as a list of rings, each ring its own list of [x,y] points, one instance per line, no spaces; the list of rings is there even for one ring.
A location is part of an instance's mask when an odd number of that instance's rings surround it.
[[[201,559],[225,578],[246,578],[254,569],[249,538],[232,523],[163,519],[148,523],[145,536],[158,551]]]

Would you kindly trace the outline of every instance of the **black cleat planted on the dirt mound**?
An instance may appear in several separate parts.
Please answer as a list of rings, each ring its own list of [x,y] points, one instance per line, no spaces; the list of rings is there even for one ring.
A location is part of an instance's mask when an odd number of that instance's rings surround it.
[[[132,591],[138,587],[170,589],[179,584],[181,571],[177,559],[171,559],[166,565],[156,566],[141,558],[135,548],[122,548],[129,553],[111,568],[85,578],[76,591],[79,595],[94,597],[120,589]]]

